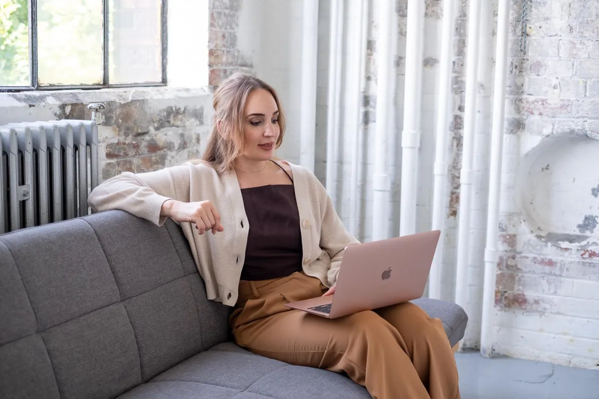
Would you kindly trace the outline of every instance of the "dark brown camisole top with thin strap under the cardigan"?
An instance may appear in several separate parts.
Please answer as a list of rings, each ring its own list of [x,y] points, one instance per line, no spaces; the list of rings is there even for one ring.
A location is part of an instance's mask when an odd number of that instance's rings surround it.
[[[300,272],[302,243],[294,185],[243,188],[241,196],[250,224],[241,279],[268,280]]]

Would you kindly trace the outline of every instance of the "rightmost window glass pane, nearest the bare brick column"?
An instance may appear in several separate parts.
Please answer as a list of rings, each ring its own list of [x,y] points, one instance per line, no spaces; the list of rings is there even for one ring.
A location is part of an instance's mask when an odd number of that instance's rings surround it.
[[[110,84],[162,81],[161,0],[110,0]]]

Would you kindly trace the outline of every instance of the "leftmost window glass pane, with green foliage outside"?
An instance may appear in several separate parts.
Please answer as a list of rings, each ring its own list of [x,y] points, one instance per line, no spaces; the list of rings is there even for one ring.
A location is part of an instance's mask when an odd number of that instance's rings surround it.
[[[0,86],[30,86],[27,0],[0,0]]]

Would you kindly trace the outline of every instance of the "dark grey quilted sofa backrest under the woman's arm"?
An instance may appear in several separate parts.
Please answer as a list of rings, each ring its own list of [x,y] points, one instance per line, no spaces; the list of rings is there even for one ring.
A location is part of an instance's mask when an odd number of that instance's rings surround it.
[[[187,240],[109,211],[0,236],[0,397],[110,398],[229,339]]]

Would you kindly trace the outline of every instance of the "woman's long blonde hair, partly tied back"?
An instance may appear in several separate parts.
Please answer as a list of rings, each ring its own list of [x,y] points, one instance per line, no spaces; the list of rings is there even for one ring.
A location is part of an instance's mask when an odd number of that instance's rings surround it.
[[[202,160],[192,161],[193,163],[203,161],[219,173],[232,169],[235,159],[240,156],[246,146],[243,128],[244,111],[247,97],[256,89],[267,90],[277,103],[280,134],[275,148],[279,148],[285,134],[285,113],[276,90],[252,75],[237,73],[223,80],[214,91],[213,107],[215,112],[208,146]]]

